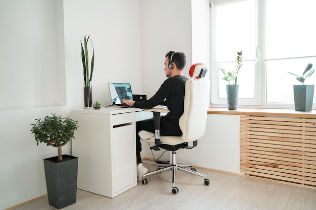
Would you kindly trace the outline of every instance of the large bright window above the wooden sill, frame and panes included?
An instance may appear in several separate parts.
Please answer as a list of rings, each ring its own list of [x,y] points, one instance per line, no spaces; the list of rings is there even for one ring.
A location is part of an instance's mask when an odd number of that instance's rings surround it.
[[[227,83],[220,68],[232,71],[242,50],[238,104],[293,108],[293,85],[300,83],[287,72],[301,75],[308,63],[316,67],[316,1],[214,0],[211,4],[212,104],[227,103]],[[316,74],[305,84],[314,81]],[[316,103],[315,99],[314,94]]]

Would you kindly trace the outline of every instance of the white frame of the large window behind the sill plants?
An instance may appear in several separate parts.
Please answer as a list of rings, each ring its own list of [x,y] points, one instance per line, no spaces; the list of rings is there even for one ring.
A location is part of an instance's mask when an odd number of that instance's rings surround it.
[[[215,34],[213,32],[214,28],[214,8],[215,4],[223,3],[223,2],[241,2],[244,0],[210,0],[210,15],[209,15],[209,23],[210,23],[210,81],[212,82],[211,87],[211,95],[210,95],[210,104],[212,107],[226,107],[227,99],[219,99],[218,98],[218,80],[221,80],[218,75],[217,64],[214,62],[215,57],[215,48],[214,46]],[[255,59],[255,72],[254,72],[254,99],[238,99],[238,107],[240,108],[277,108],[277,109],[294,109],[293,103],[268,103],[266,100],[267,94],[267,61],[264,60],[264,48],[262,48],[262,44],[264,39],[264,28],[265,24],[262,19],[262,14],[265,13],[264,0],[254,0],[255,1],[255,22],[256,22],[256,49],[254,49],[256,53]],[[293,83],[294,85],[294,83]],[[294,96],[293,96],[294,97]],[[313,109],[315,108],[315,101],[313,102]]]

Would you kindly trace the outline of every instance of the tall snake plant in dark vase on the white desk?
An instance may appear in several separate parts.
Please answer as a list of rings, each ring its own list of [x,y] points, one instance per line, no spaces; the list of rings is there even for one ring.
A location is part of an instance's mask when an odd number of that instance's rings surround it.
[[[84,36],[84,48],[81,43],[81,59],[82,59],[82,65],[83,65],[83,79],[84,79],[84,87],[83,87],[83,98],[84,98],[84,107],[91,107],[92,106],[92,87],[91,87],[91,81],[92,81],[92,74],[93,74],[93,68],[94,68],[94,47],[93,43],[91,41],[92,49],[93,49],[93,55],[91,58],[91,69],[90,69],[90,78],[89,78],[89,53],[88,53],[88,41],[89,37],[86,39],[86,36]]]

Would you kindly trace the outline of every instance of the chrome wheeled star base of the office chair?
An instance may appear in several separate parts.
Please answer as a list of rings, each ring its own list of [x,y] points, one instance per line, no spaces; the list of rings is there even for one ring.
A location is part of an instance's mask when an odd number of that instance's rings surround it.
[[[162,173],[162,172],[165,172],[168,170],[172,170],[172,192],[176,194],[179,191],[179,189],[175,186],[176,185],[176,183],[175,183],[176,172],[177,172],[177,170],[180,170],[180,171],[184,171],[184,172],[187,172],[190,174],[201,176],[204,178],[204,184],[205,185],[209,184],[209,180],[206,179],[206,175],[196,172],[192,165],[178,165],[177,161],[176,161],[176,154],[177,153],[175,151],[171,152],[171,164],[167,164],[167,166],[165,164],[158,164],[158,169],[156,171],[152,171],[152,172],[149,172],[147,174],[144,174],[142,183],[143,184],[148,183],[148,180],[146,179],[147,176],[150,176],[152,174]],[[187,169],[186,167],[191,167],[191,169]]]

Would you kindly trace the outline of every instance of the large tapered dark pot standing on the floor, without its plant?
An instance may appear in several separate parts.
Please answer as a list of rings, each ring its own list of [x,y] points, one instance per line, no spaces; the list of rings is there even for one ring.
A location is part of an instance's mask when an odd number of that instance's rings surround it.
[[[55,208],[63,208],[76,202],[78,158],[63,155],[63,162],[58,156],[44,159],[48,203]]]

